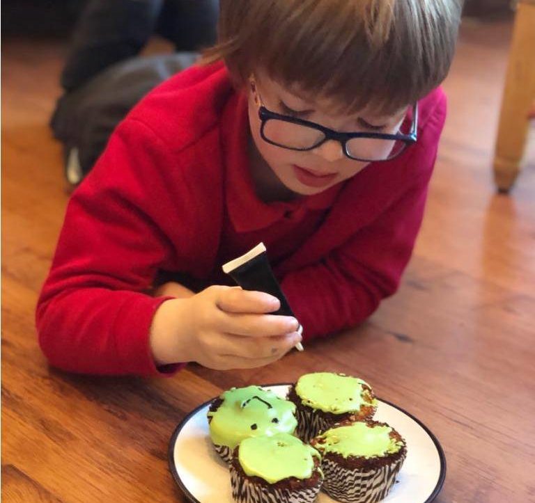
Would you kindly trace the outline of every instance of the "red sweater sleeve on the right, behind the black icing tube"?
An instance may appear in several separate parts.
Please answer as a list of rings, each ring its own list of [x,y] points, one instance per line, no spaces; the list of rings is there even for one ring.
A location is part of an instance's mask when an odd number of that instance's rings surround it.
[[[424,173],[373,222],[321,262],[286,274],[282,288],[305,340],[355,326],[396,292],[421,225],[435,157],[436,145],[424,156]]]

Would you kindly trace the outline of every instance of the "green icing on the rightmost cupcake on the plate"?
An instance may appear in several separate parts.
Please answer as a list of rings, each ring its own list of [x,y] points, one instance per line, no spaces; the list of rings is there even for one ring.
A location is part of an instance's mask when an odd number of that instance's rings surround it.
[[[355,422],[350,426],[332,428],[318,437],[318,449],[348,456],[372,458],[394,454],[403,447],[403,442],[390,438],[390,426],[369,426],[365,422]]]

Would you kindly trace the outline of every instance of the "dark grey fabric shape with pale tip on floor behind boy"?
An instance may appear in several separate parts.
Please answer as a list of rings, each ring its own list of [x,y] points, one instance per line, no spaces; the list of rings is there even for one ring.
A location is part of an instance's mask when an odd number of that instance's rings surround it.
[[[148,91],[192,65],[198,56],[184,52],[130,58],[65,93],[50,125],[64,145],[68,182],[82,181],[106,147],[111,131]]]

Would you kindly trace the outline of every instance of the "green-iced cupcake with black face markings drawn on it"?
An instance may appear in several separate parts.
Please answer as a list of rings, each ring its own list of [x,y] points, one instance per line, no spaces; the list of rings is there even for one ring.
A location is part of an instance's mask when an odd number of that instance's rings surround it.
[[[294,433],[295,405],[259,386],[232,388],[208,410],[210,438],[217,454],[229,463],[233,449],[247,437]]]

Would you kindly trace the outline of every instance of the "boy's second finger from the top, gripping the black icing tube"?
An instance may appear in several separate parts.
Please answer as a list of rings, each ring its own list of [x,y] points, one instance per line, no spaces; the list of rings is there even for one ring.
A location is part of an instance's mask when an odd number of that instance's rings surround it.
[[[235,314],[225,313],[222,317],[222,331],[248,337],[268,337],[295,332],[299,327],[297,319],[279,314]]]

